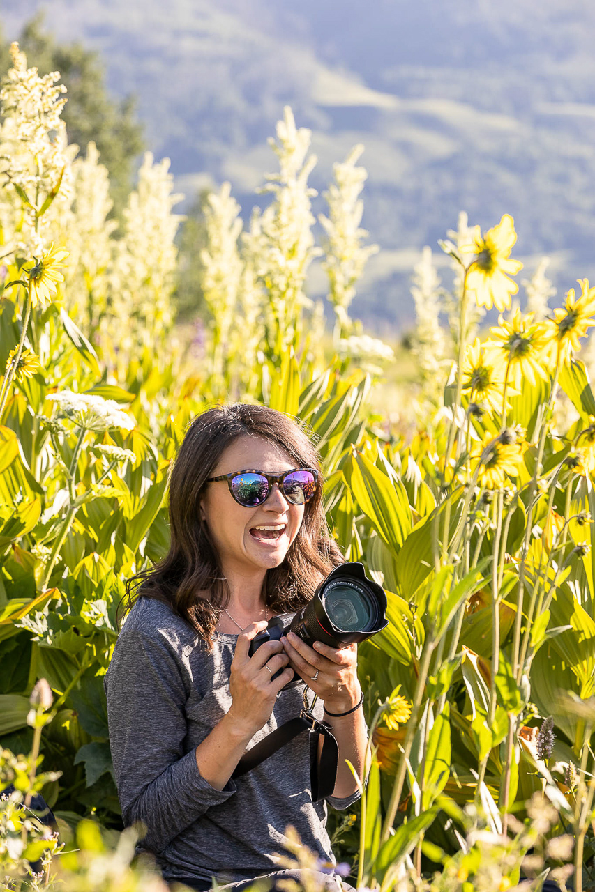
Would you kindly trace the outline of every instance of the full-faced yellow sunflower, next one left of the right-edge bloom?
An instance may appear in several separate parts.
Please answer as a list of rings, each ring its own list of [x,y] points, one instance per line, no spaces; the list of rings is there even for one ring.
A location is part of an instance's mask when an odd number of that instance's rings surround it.
[[[533,322],[533,314],[523,315],[516,309],[511,319],[502,316],[499,328],[490,328],[485,343],[486,356],[495,356],[508,365],[508,383],[520,389],[523,381],[535,384],[536,377],[547,378],[544,363],[548,362],[548,329],[543,322]]]

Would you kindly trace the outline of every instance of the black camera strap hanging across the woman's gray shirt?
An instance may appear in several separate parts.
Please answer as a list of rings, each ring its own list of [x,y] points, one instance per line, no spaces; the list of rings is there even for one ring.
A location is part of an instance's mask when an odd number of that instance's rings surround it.
[[[306,691],[305,691],[306,695]],[[278,749],[284,747],[289,740],[298,737],[303,731],[310,731],[316,735],[316,747],[314,747],[314,758],[310,765],[310,783],[312,788],[312,801],[320,802],[332,796],[337,780],[337,766],[339,764],[339,744],[331,733],[332,726],[324,722],[320,722],[312,714],[306,704],[306,696],[304,697],[304,709],[295,719],[289,719],[289,722],[282,724],[275,731],[271,731],[262,740],[259,740],[254,747],[248,749],[247,753],[239,760],[235,771],[231,775],[232,778],[239,778],[242,774],[252,771],[256,765],[264,762]],[[314,699],[315,703],[315,699]],[[314,707],[314,703],[312,707]],[[323,737],[323,749],[320,759],[318,758],[318,740]]]

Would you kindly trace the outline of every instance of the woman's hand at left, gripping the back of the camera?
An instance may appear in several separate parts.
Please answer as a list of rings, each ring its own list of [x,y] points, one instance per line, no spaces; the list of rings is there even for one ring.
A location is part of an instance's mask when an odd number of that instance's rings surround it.
[[[238,635],[238,643],[231,661],[230,694],[233,700],[228,715],[239,727],[260,731],[271,717],[277,694],[293,678],[293,670],[285,669],[279,678],[272,676],[287,666],[289,657],[281,641],[266,641],[248,656],[250,641],[263,632],[266,622],[251,623]]]

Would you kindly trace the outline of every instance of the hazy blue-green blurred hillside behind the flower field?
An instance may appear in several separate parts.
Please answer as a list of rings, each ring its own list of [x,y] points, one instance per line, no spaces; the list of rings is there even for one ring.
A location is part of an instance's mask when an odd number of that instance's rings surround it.
[[[516,256],[530,274],[549,254],[560,290],[595,278],[588,0],[4,0],[4,36],[40,9],[56,37],[102,54],[115,95],[138,95],[189,199],[229,178],[247,219],[285,103],[314,131],[321,192],[363,142],[364,223],[382,252],[354,313],[376,328],[411,318],[413,264],[459,210],[482,227],[512,213]]]

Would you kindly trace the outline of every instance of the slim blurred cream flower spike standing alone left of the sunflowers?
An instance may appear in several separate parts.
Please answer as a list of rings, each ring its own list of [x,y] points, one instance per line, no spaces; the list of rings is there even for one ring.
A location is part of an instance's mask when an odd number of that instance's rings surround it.
[[[447,345],[440,326],[440,277],[432,262],[432,248],[423,248],[422,260],[415,266],[411,294],[415,303],[417,326],[414,351],[419,363],[423,391],[437,402],[444,382],[441,372],[447,359]]]

